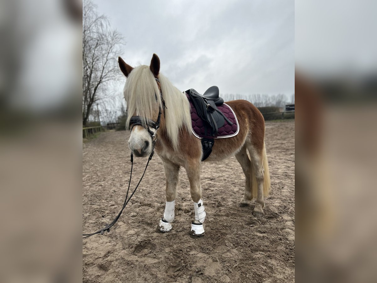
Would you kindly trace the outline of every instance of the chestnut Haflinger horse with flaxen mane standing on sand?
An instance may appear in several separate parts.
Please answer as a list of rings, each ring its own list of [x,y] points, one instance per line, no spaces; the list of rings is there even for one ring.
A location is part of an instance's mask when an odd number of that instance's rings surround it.
[[[131,129],[129,148],[136,157],[148,157],[155,146],[165,169],[166,206],[158,229],[162,232],[172,229],[179,168],[183,167],[189,178],[195,212],[190,234],[204,235],[202,223],[206,212],[200,185],[203,149],[200,139],[192,133],[189,101],[184,92],[179,91],[159,73],[160,60],[156,54],[153,54],[150,66],[133,68],[121,57],[118,58],[118,63],[127,77],[124,97],[128,113],[126,125]],[[264,196],[270,191],[264,118],[246,100],[229,101],[227,105],[237,116],[239,132],[233,137],[216,139],[212,152],[205,161],[219,161],[235,155],[246,178],[241,206],[248,205],[256,198],[253,214],[262,217]]]

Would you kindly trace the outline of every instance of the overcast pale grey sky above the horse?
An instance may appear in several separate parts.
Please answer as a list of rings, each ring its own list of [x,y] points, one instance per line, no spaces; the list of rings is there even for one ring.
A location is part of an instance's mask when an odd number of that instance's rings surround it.
[[[124,61],[149,65],[156,53],[160,72],[182,91],[294,93],[293,0],[94,3],[123,34]]]

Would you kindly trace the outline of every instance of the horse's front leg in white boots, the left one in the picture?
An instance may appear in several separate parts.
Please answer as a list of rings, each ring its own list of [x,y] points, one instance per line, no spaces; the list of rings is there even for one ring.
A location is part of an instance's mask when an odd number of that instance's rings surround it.
[[[177,186],[179,182],[179,165],[163,161],[166,175],[166,204],[164,216],[161,218],[158,229],[161,232],[168,232],[172,229],[174,221],[175,198],[177,196]]]

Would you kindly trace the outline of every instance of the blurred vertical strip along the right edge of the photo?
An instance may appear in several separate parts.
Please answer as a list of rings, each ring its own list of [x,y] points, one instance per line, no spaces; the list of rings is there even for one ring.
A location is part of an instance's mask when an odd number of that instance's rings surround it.
[[[296,279],[377,278],[374,1],[296,1]]]

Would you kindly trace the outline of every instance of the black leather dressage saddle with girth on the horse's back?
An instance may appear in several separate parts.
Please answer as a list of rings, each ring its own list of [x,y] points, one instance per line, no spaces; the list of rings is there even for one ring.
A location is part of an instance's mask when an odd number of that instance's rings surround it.
[[[189,89],[186,93],[189,95],[199,118],[205,124],[205,135],[216,138],[219,128],[224,126],[225,121],[229,125],[233,125],[225,117],[224,113],[217,108],[217,106],[221,106],[224,103],[224,99],[219,97],[219,88],[217,86],[211,86],[203,95],[199,94],[195,89]],[[202,138],[202,161],[211,154],[212,146],[215,143],[213,138]]]

